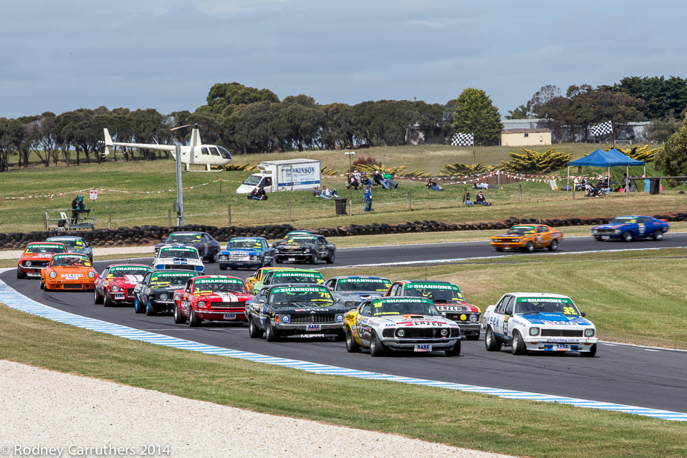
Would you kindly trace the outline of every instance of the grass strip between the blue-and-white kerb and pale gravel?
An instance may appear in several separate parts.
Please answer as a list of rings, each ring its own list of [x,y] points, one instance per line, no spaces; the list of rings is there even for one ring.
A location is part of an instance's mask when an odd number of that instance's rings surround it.
[[[680,422],[308,374],[127,341],[5,306],[0,319],[0,358],[264,413],[537,457],[639,457],[647,450],[677,457],[687,442]]]

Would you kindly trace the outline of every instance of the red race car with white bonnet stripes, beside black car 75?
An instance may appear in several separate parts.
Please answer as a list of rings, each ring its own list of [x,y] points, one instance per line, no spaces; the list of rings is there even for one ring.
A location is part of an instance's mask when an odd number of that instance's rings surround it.
[[[174,291],[174,323],[197,326],[203,321],[246,321],[246,302],[253,299],[238,277],[201,275]]]

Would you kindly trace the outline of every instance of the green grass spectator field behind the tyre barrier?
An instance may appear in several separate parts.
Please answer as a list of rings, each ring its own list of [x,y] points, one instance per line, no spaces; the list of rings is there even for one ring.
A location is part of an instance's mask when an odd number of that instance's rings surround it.
[[[564,145],[563,147],[570,146]],[[578,154],[586,152],[590,145],[574,144]],[[509,148],[492,147],[482,149],[486,163],[499,163],[505,159]],[[404,146],[397,148],[370,148],[365,154],[389,158],[387,165],[412,164],[409,169],[433,171],[432,163],[460,161],[453,150],[445,146]],[[294,156],[295,154],[295,156]],[[360,154],[363,154],[361,151]],[[283,154],[251,155],[251,161],[260,159],[281,159],[282,157],[317,157],[323,165],[334,167],[340,172],[346,170],[341,164],[341,152],[289,152]],[[336,159],[339,158],[339,159]],[[433,159],[431,159],[433,158]],[[243,157],[237,157],[240,162]],[[434,162],[432,162],[434,161]],[[622,172],[620,172],[622,173]],[[635,173],[642,173],[635,170]],[[652,173],[651,166],[648,174]],[[440,220],[445,222],[475,222],[504,220],[510,216],[522,218],[565,218],[570,216],[613,216],[616,214],[662,214],[678,211],[684,207],[686,197],[678,194],[678,188],[666,188],[666,194],[651,196],[643,192],[635,194],[612,193],[609,198],[583,198],[576,193],[573,200],[570,192],[554,192],[548,183],[521,181],[504,185],[503,190],[484,192],[491,207],[463,207],[462,195],[470,184],[445,185],[444,192],[427,190],[423,182],[400,181],[396,190],[374,191],[374,214],[362,214],[362,192],[353,192],[353,216],[336,216],[333,201],[312,196],[311,192],[280,192],[269,196],[268,201],[248,201],[245,195],[236,194],[236,187],[249,172],[192,172],[183,174],[184,210],[186,224],[229,225],[229,206],[232,211],[232,225],[250,226],[291,222],[297,227],[335,227],[350,224],[386,222],[397,224],[414,220]],[[218,179],[227,181],[210,183]],[[205,184],[210,183],[210,184]],[[349,197],[341,178],[323,179],[328,187],[337,188],[342,197]],[[563,184],[563,183],[559,183]],[[98,187],[98,201],[89,201],[87,188]],[[192,187],[192,189],[190,189]],[[522,187],[522,197],[520,196]],[[33,167],[27,170],[12,170],[2,174],[0,197],[54,195],[52,199],[38,197],[21,200],[0,201],[0,231],[24,232],[43,229],[45,209],[66,209],[71,207],[74,191],[82,191],[86,204],[95,209],[96,227],[107,227],[111,216],[112,227],[137,225],[168,225],[168,212],[176,200],[174,162],[156,160],[150,162],[122,161],[91,164],[80,167]],[[128,193],[110,190],[128,191]],[[408,193],[411,193],[412,210],[409,211]],[[473,195],[476,192],[473,190]],[[474,197],[473,197],[474,200]],[[291,218],[289,218],[291,203]],[[176,219],[172,216],[172,225]]]

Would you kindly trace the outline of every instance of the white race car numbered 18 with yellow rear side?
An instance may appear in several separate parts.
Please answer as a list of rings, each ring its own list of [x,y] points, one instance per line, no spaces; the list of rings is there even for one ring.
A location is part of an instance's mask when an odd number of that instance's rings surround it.
[[[367,299],[343,315],[346,350],[370,348],[372,356],[385,350],[460,354],[465,336],[457,323],[445,319],[429,299],[381,297]]]

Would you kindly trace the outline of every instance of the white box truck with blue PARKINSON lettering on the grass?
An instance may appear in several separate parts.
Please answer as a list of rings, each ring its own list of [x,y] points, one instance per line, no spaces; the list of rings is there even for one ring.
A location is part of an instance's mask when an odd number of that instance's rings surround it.
[[[319,161],[313,159],[264,161],[258,164],[258,172],[241,183],[236,194],[248,194],[260,186],[265,192],[313,190],[319,186],[321,170]]]

